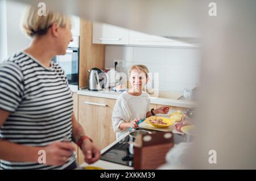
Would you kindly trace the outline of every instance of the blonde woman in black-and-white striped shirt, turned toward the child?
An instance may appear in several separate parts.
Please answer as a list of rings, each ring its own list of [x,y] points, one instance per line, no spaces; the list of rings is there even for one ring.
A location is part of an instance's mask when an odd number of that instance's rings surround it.
[[[71,19],[37,12],[28,7],[23,17],[30,46],[0,64],[1,169],[75,169],[71,141],[87,163],[96,162],[100,150],[77,123],[67,78],[51,61],[73,40]],[[39,153],[46,153],[45,163]]]

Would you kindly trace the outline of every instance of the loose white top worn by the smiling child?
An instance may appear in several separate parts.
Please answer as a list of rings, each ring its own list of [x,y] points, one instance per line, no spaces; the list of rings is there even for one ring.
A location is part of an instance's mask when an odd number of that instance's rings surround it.
[[[150,96],[147,92],[142,92],[140,96],[130,95],[128,92],[119,95],[112,114],[112,124],[117,139],[129,132],[129,128],[119,129],[121,123],[144,119],[148,111],[150,111]]]

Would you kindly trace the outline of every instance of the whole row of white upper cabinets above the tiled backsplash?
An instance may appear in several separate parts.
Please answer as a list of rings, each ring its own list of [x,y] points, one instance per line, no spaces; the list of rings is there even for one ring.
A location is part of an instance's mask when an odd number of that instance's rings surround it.
[[[103,23],[93,23],[94,44],[144,45],[166,47],[196,47],[183,41],[148,35]]]

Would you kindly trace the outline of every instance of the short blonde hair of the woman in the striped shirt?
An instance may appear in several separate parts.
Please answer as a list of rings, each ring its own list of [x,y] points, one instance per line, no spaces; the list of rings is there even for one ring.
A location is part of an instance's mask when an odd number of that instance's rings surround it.
[[[44,35],[53,23],[57,23],[59,27],[65,27],[71,23],[68,15],[46,10],[46,16],[40,16],[38,10],[37,7],[28,6],[23,13],[21,26],[27,36]]]

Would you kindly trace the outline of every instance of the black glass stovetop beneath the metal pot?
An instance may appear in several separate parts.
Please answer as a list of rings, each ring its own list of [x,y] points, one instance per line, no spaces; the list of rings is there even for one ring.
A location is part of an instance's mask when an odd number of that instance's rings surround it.
[[[159,132],[152,129],[146,128],[137,128],[137,130],[146,130],[150,132]],[[174,136],[174,144],[178,144],[179,142],[184,141],[184,136],[182,134],[175,134]],[[121,141],[117,142],[110,149],[106,150],[101,154],[101,160],[118,163],[125,166],[133,167],[133,154],[129,152],[129,135],[123,138]]]

